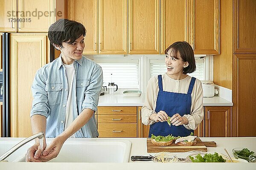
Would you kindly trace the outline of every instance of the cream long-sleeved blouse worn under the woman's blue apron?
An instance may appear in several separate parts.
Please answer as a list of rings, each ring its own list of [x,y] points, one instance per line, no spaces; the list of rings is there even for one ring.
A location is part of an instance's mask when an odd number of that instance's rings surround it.
[[[190,80],[192,77],[187,76],[184,79],[175,80],[170,78],[166,73],[162,74],[163,91],[169,91],[174,93],[187,94],[189,89]],[[157,76],[152,77],[148,81],[148,87],[145,94],[145,103],[141,109],[142,123],[144,125],[151,125],[154,121],[149,119],[152,113],[156,113],[157,94],[159,91]],[[191,94],[191,113],[184,116],[189,120],[188,125],[183,125],[189,130],[195,130],[203,120],[203,88],[201,81],[196,79],[195,85]]]

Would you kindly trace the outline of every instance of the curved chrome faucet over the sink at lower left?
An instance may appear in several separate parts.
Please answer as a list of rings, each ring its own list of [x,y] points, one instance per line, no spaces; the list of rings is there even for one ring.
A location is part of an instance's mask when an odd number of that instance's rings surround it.
[[[44,137],[44,132],[40,132],[40,133],[37,133],[37,134],[35,134],[33,136],[30,136],[30,137],[24,139],[23,141],[19,142],[14,147],[12,147],[8,151],[6,151],[6,153],[4,153],[2,156],[0,156],[0,161],[3,161],[4,159],[6,159],[9,155],[11,155],[13,152],[15,152],[15,150],[19,149],[24,144],[32,141],[33,139],[36,139],[36,138],[41,139],[43,137]]]

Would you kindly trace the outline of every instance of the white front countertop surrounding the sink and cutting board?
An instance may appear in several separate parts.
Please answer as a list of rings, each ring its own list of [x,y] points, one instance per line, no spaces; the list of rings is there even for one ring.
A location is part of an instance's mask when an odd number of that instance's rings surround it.
[[[22,140],[23,138],[20,138]],[[223,153],[224,148],[227,149],[232,155],[232,148],[234,147],[247,147],[250,150],[256,151],[256,137],[233,137],[233,138],[200,138],[202,141],[215,141],[217,147],[208,147],[207,150],[209,153]],[[67,139],[67,140],[76,140],[76,139]],[[129,140],[132,142],[131,147],[131,156],[149,156],[149,154],[154,155],[154,153],[147,153],[146,148],[146,138],[98,138],[98,139],[84,139],[85,141],[90,140]],[[186,157],[190,153],[175,153],[178,157]],[[130,169],[147,169],[147,170],[156,170],[156,169],[168,169],[170,164],[161,164],[154,163],[152,161],[131,161],[129,163],[27,163],[27,162],[1,162],[0,169],[18,169],[18,170],[130,170]],[[216,169],[225,169],[225,170],[255,170],[256,163],[172,163],[172,169],[189,169],[189,170],[216,170]]]

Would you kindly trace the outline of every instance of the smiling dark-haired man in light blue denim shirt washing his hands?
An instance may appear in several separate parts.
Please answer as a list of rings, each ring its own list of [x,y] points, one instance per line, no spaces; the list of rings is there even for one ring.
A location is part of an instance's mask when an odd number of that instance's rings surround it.
[[[60,57],[40,68],[32,84],[33,134],[54,138],[43,150],[39,141],[29,148],[26,161],[49,161],[58,156],[69,137],[98,137],[94,112],[102,88],[102,68],[82,56],[86,30],[81,23],[60,19],[49,27]],[[41,155],[42,154],[42,155]]]

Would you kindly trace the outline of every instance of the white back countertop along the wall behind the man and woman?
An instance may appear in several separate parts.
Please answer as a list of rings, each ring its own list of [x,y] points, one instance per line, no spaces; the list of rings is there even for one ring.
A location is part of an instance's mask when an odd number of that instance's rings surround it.
[[[98,106],[143,106],[145,94],[141,94],[139,97],[127,97],[123,94],[105,94],[99,96]],[[204,106],[233,106],[232,102],[229,102],[221,97],[204,97]]]

